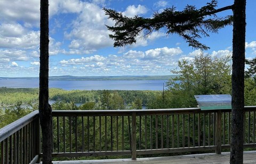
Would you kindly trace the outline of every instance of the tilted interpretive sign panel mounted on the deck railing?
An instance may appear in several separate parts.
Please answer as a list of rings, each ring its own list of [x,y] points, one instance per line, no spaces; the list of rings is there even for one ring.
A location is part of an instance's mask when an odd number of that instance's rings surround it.
[[[195,95],[201,110],[231,109],[230,95]]]

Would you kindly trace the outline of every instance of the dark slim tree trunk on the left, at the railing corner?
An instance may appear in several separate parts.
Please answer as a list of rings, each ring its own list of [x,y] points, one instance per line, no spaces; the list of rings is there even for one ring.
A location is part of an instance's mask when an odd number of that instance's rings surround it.
[[[49,1],[40,2],[39,119],[43,136],[43,163],[52,163],[52,109],[49,105]]]

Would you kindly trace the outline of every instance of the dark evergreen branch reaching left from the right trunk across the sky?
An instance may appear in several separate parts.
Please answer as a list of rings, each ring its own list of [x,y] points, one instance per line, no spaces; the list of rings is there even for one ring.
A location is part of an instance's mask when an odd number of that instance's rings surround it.
[[[135,15],[128,18],[112,9],[103,8],[108,18],[115,21],[115,26],[107,26],[114,32],[109,37],[115,40],[114,47],[136,43],[136,37],[144,32],[149,36],[153,31],[166,29],[166,34],[178,34],[185,39],[189,46],[207,50],[209,47],[198,42],[198,38],[209,36],[209,32],[217,33],[219,29],[231,24],[233,17],[217,17],[215,13],[232,9],[232,6],[215,9],[217,1],[206,3],[201,9],[187,5],[183,11],[176,11],[175,7],[167,8],[162,13],[155,12],[153,18],[142,18]]]

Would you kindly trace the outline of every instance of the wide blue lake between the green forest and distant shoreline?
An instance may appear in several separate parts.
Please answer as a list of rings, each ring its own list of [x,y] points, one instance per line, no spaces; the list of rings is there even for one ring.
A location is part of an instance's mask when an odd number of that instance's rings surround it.
[[[162,91],[167,80],[49,80],[50,88],[65,90],[152,90]],[[0,79],[0,87],[38,88],[38,79]]]

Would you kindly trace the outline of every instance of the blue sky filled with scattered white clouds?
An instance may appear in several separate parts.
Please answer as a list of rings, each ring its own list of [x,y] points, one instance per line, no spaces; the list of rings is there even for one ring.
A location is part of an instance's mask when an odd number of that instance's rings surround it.
[[[127,1],[127,0],[49,0],[50,76],[171,75],[179,60],[199,53],[177,35],[154,32],[139,37],[137,44],[114,48],[102,7],[122,12],[127,17],[152,17],[172,5],[181,11],[187,4],[197,8],[210,1]],[[218,8],[233,1],[219,1]],[[39,76],[39,0],[0,1],[0,77]],[[246,5],[246,58],[256,55],[256,1]],[[225,11],[219,16],[232,14]],[[232,26],[200,41],[215,56],[231,54]]]

